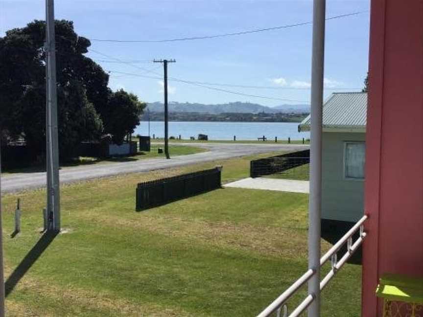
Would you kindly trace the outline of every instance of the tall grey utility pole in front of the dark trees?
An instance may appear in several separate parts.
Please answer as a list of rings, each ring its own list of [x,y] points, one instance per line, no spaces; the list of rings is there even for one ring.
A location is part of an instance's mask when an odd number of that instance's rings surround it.
[[[54,32],[54,0],[46,0],[46,42],[47,42],[47,206],[53,213],[53,230],[60,231],[60,188],[59,188],[59,142],[57,129],[57,89],[56,89],[56,45]]]

